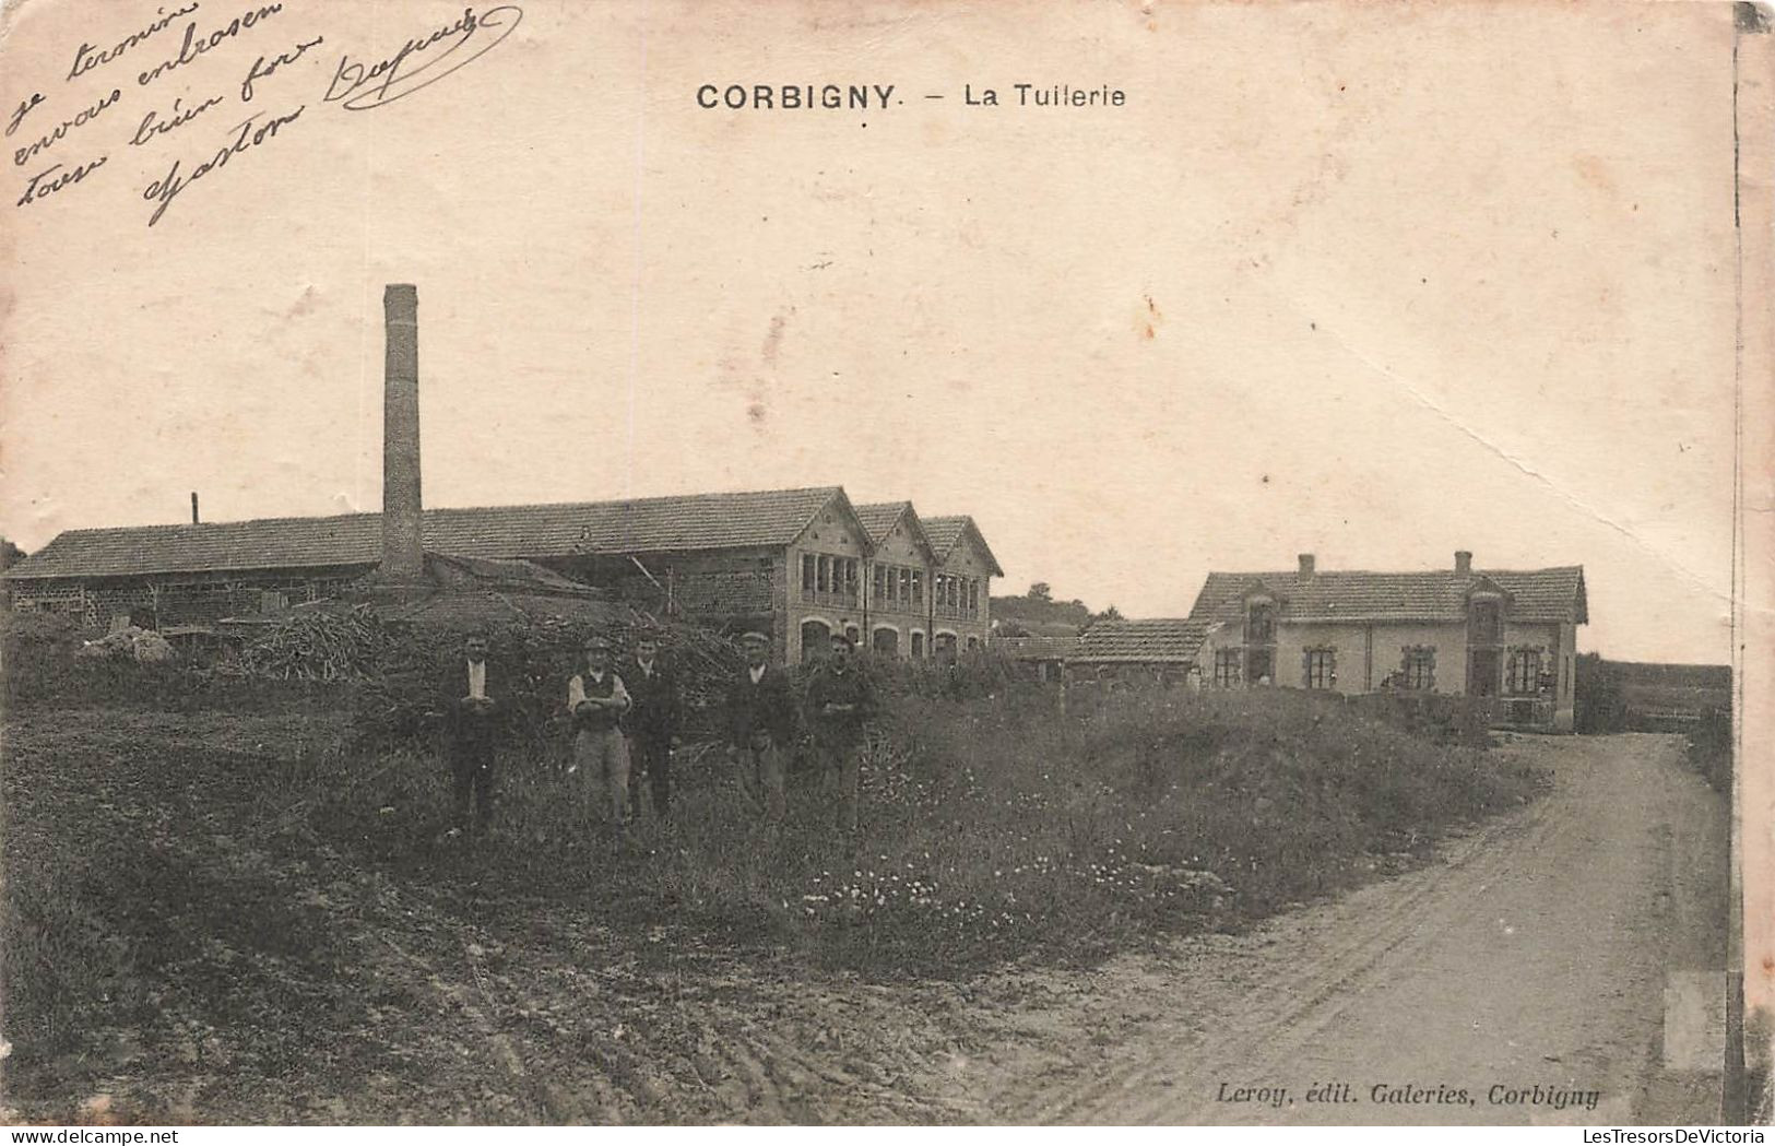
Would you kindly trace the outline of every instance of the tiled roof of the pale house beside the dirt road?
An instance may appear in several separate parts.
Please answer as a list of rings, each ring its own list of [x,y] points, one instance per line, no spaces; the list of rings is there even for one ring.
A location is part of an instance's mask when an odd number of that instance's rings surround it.
[[[1424,573],[1319,571],[1209,573],[1191,617],[1237,619],[1248,589],[1266,587],[1278,598],[1282,617],[1296,621],[1461,621],[1466,594],[1491,580],[1509,598],[1514,621],[1589,621],[1583,566],[1551,569],[1454,569]]]

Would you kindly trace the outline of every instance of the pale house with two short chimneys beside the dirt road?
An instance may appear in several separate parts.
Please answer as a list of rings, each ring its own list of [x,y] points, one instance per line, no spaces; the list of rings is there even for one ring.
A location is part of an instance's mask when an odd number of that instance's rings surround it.
[[[1191,619],[1212,687],[1440,692],[1498,697],[1509,724],[1569,731],[1583,568],[1416,573],[1209,573]]]

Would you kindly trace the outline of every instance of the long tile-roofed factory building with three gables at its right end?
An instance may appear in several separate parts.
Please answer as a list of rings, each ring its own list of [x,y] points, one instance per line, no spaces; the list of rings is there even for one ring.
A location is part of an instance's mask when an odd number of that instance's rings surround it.
[[[532,561],[653,612],[761,628],[786,662],[832,632],[900,656],[983,644],[1003,569],[973,518],[866,511],[840,486],[426,509],[421,538],[430,553]],[[206,623],[323,600],[376,571],[382,516],[75,529],[4,584],[16,610],[98,628]]]

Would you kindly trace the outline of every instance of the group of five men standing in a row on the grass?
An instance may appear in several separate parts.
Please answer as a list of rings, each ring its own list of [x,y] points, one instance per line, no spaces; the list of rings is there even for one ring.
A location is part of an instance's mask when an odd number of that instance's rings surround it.
[[[820,789],[838,827],[857,830],[857,786],[864,727],[875,713],[868,674],[852,642],[834,633],[825,658],[797,690],[770,663],[770,639],[740,637],[746,665],[726,695],[722,731],[740,807],[767,823],[783,820],[790,759],[797,745],[813,749]],[[588,811],[625,828],[643,814],[643,784],[653,816],[666,820],[673,795],[673,754],[680,747],[683,694],[678,674],[660,656],[655,632],[641,630],[618,662],[611,640],[586,639],[582,667],[566,681],[573,727],[568,777],[584,791]],[[499,788],[499,729],[511,717],[509,683],[488,669],[488,639],[474,633],[444,687],[444,752],[453,779],[451,836],[485,834]],[[797,695],[799,692],[799,695]],[[804,736],[804,733],[808,733]],[[639,772],[639,777],[632,777]],[[630,782],[635,779],[637,782]]]

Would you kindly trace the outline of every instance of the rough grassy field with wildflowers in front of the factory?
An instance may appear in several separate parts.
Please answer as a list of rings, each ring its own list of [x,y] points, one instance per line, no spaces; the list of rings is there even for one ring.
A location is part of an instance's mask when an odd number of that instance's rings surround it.
[[[896,699],[847,843],[719,754],[618,839],[554,754],[493,839],[323,697],[14,708],[5,1105],[117,1121],[937,1121],[982,976],[1239,931],[1541,775],[1287,692]]]

